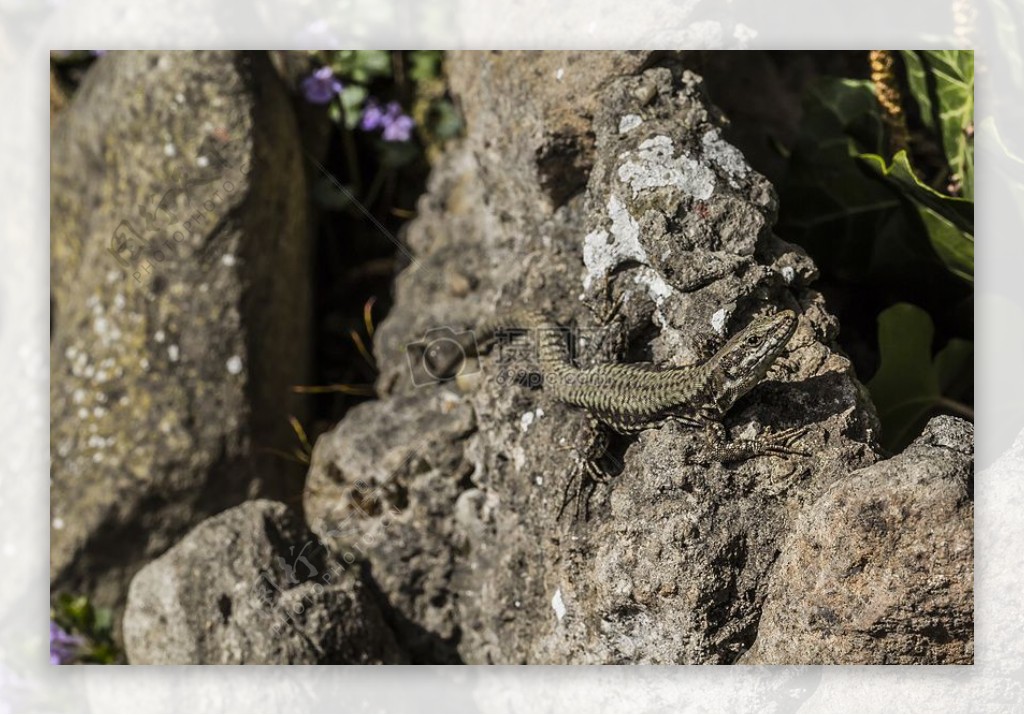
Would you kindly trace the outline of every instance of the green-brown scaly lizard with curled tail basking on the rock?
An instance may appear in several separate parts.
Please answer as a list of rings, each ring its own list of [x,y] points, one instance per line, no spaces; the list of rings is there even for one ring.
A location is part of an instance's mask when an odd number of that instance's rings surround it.
[[[594,435],[583,451],[583,472],[577,497],[577,517],[587,510],[596,482],[603,477],[597,460],[607,447],[607,430],[635,434],[675,422],[703,431],[710,455],[720,462],[733,462],[759,455],[806,456],[793,444],[807,432],[793,427],[767,431],[753,439],[728,438],[723,417],[737,399],[756,387],[784,351],[797,330],[793,310],[755,318],[703,363],[660,367],[646,363],[602,364],[578,368],[569,359],[564,331],[548,314],[518,309],[498,314],[473,331],[477,351],[487,347],[510,329],[532,331],[543,377],[543,388],[554,401],[583,410]],[[451,343],[447,343],[451,347]],[[438,345],[424,354],[435,375],[452,375],[466,356],[465,345],[443,349]],[[558,511],[561,518],[570,499],[575,475],[570,474],[565,498]],[[589,493],[584,490],[590,487]]]

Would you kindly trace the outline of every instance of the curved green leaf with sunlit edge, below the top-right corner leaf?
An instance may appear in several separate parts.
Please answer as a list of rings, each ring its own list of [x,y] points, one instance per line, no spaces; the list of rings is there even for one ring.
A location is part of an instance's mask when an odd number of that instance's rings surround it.
[[[906,152],[898,152],[890,166],[873,154],[863,154],[858,159],[911,202],[939,258],[950,272],[973,284],[974,202],[940,194],[922,182],[910,167]]]

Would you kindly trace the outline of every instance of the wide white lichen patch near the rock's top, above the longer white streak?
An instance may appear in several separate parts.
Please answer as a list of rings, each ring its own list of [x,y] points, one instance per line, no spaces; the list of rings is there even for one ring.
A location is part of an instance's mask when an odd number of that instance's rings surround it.
[[[618,167],[618,178],[628,183],[636,198],[642,192],[671,186],[687,196],[707,200],[715,191],[715,172],[705,164],[681,154],[668,136],[645,139],[634,155],[635,160]]]

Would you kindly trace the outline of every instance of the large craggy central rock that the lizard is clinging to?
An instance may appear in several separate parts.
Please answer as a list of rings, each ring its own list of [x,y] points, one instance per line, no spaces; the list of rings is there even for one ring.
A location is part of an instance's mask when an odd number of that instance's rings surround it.
[[[468,134],[406,236],[415,261],[375,338],[384,396],[322,437],[305,496],[313,530],[366,559],[420,645],[437,646],[417,659],[735,662],[801,514],[877,460],[816,269],[772,235],[772,186],[677,60],[450,56]],[[446,385],[410,365],[410,343],[508,305],[578,329],[584,366],[702,360],[751,317],[796,309],[788,353],[726,425],[806,426],[808,456],[696,466],[693,434],[648,430],[612,441],[590,519],[557,520],[583,416],[508,379],[497,350]],[[355,553],[359,534],[373,537]]]

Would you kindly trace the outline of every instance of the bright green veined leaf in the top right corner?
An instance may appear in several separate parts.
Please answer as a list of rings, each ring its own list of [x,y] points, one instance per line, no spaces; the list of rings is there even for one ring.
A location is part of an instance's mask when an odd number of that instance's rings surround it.
[[[925,125],[942,139],[950,171],[966,199],[974,199],[974,52],[904,50],[907,84]]]

